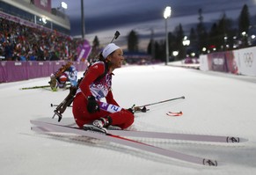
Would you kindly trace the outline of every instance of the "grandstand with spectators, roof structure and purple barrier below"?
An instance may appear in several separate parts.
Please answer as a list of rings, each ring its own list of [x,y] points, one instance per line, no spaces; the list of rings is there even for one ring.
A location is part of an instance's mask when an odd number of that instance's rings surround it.
[[[86,62],[76,62],[77,47],[84,41],[69,36],[69,18],[28,0],[1,0],[0,7],[0,83],[48,77],[69,61],[78,71],[86,68]]]

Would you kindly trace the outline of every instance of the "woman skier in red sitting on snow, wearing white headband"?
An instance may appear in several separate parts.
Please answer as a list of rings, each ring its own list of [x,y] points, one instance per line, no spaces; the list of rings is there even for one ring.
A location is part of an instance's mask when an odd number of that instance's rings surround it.
[[[111,91],[113,70],[121,68],[124,61],[120,47],[108,44],[99,55],[99,62],[93,63],[85,72],[73,101],[73,115],[79,128],[106,132],[106,128],[124,129],[134,122],[130,109],[109,113],[99,109],[99,101],[106,98],[108,104],[119,106]]]

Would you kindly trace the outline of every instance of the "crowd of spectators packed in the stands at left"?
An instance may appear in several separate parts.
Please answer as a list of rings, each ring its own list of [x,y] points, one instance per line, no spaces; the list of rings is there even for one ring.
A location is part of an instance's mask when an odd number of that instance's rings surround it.
[[[82,40],[0,18],[0,56],[5,61],[77,60]]]

